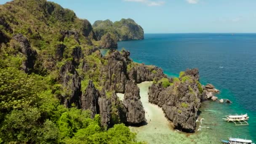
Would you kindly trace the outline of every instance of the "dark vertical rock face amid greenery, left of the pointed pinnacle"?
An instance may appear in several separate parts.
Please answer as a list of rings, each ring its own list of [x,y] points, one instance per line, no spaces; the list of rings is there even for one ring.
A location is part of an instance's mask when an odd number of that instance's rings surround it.
[[[74,103],[77,108],[81,108],[81,78],[71,62],[66,62],[61,67],[59,80],[66,91],[61,96],[61,103],[66,107],[71,107],[71,104]]]

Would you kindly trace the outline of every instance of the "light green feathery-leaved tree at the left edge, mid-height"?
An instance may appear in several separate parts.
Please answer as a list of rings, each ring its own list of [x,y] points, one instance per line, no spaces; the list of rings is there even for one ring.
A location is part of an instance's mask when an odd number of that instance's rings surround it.
[[[15,68],[0,69],[0,110],[10,111],[35,105],[37,88],[32,75]]]

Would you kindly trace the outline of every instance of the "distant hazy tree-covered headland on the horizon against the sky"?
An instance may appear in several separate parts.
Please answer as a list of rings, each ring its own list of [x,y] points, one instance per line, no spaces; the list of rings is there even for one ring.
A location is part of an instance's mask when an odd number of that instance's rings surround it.
[[[110,20],[95,21],[93,29],[98,40],[107,32],[115,35],[117,40],[142,40],[144,31],[133,19],[121,19],[113,23]]]

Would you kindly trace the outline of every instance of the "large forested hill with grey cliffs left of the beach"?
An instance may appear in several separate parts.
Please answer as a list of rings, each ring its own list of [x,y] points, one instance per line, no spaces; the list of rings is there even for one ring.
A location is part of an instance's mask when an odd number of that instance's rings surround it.
[[[145,120],[135,84],[166,76],[125,50],[102,56],[109,35],[46,0],[0,5],[0,143],[137,143],[122,124]]]

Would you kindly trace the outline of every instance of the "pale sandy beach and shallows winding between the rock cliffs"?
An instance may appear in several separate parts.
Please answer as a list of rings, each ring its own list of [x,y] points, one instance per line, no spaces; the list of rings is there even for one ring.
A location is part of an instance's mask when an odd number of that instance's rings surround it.
[[[173,129],[172,124],[165,117],[162,108],[148,102],[148,88],[152,82],[139,83],[141,102],[145,110],[147,125],[140,127],[129,126],[131,131],[137,133],[138,141],[146,141],[148,144],[207,144],[209,137],[205,131],[196,133],[183,133]],[[117,93],[120,100],[124,94]],[[197,123],[197,124],[200,124]],[[216,143],[216,142],[214,142]]]

